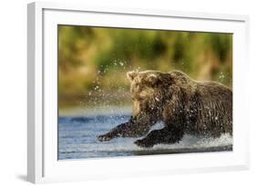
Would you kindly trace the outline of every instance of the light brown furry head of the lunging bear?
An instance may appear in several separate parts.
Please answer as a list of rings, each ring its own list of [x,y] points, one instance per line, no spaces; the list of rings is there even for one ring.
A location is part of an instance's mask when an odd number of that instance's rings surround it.
[[[170,73],[159,71],[128,72],[127,76],[133,100],[133,116],[143,113],[158,115],[171,84]]]

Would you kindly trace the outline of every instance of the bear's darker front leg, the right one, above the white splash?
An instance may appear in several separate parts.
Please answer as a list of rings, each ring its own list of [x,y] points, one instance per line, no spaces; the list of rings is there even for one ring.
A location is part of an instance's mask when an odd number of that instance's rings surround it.
[[[179,129],[164,127],[160,130],[154,130],[148,133],[148,135],[135,142],[140,147],[150,148],[155,144],[171,144],[179,142],[183,137],[184,132]]]

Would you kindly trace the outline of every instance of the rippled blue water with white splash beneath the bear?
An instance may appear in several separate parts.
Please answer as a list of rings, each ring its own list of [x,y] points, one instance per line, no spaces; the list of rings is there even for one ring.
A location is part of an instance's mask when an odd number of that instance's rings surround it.
[[[108,142],[98,142],[97,135],[109,132],[129,115],[60,116],[58,118],[58,159],[87,159],[115,156],[185,153],[221,152],[232,150],[232,138],[222,134],[217,139],[203,139],[184,135],[179,143],[158,144],[153,148],[140,148],[133,142],[138,138],[117,138]],[[157,123],[152,130],[163,127]]]

